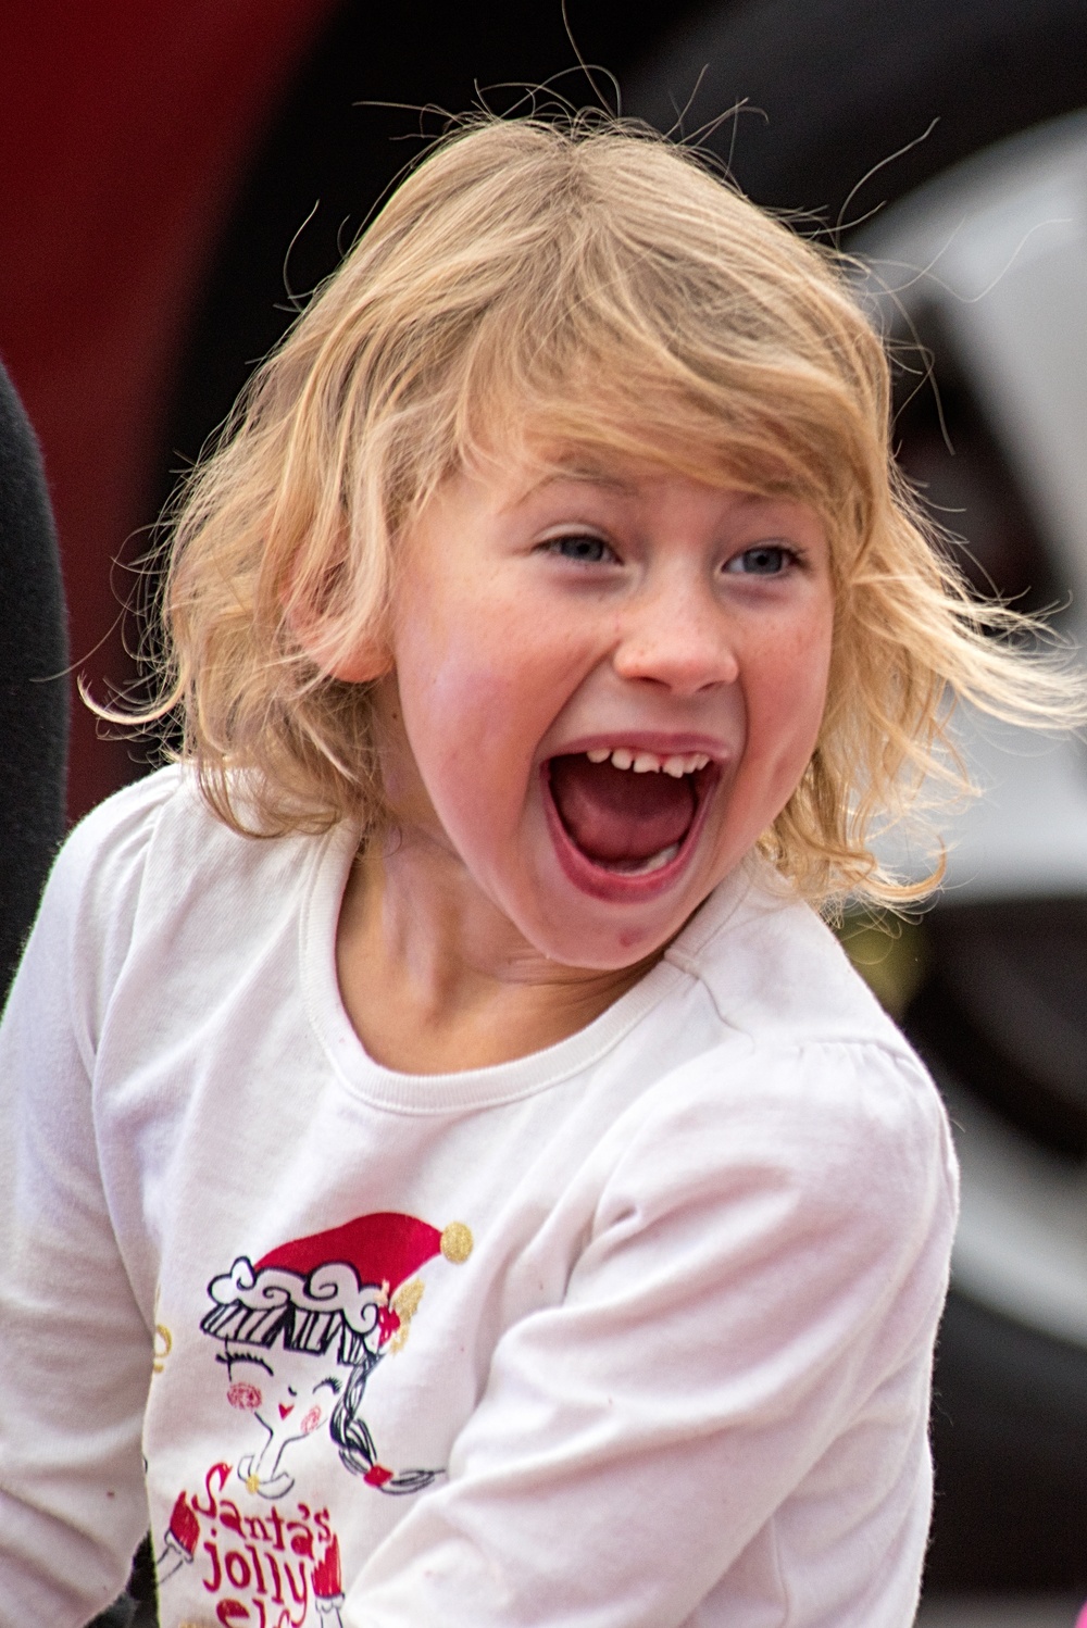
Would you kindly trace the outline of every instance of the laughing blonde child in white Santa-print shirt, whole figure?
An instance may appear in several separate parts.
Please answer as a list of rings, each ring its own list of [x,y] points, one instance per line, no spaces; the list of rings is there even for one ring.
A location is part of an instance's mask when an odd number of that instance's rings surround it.
[[[182,760],[0,1031],[0,1618],[908,1628],[955,1166],[812,904],[945,700],[1071,715],[828,252],[480,122],[176,524]]]

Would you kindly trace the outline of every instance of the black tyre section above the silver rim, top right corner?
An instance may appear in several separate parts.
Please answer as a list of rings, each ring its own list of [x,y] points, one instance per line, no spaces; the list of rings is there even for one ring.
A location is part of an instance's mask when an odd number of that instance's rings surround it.
[[[705,70],[705,73],[703,73]],[[701,80],[700,80],[701,75]],[[1087,98],[1082,0],[745,0],[709,5],[630,81],[630,111],[714,135],[740,186],[845,225]],[[690,103],[690,106],[687,106]]]

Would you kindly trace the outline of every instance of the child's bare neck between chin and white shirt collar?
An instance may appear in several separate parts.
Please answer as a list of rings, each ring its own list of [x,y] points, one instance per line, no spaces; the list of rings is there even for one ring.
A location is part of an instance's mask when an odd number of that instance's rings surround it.
[[[555,1045],[656,959],[615,972],[548,961],[456,853],[410,827],[356,860],[337,930],[340,995],[356,1034],[376,1061],[418,1074]]]

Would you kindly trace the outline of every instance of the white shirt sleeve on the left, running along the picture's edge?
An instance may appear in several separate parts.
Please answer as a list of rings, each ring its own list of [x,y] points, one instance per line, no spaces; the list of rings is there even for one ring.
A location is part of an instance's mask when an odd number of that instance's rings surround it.
[[[94,1045],[163,786],[96,811],[54,868],[0,1024],[0,1625],[81,1625],[146,1530],[151,1333],[103,1190]]]

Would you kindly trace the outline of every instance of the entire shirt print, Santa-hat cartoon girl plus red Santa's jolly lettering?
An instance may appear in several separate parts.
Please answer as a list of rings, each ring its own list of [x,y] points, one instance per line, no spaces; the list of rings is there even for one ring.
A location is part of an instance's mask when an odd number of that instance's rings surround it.
[[[343,1599],[338,1538],[327,1511],[298,1503],[291,1519],[280,1503],[278,1512],[277,1501],[295,1486],[285,1459],[293,1460],[296,1444],[327,1424],[343,1467],[381,1493],[417,1493],[444,1473],[382,1465],[361,1408],[374,1368],[408,1337],[423,1298],[415,1273],[436,1255],[459,1265],[470,1254],[472,1234],[462,1223],[438,1231],[386,1211],[293,1239],[255,1265],[241,1255],[229,1273],[212,1280],[213,1306],[200,1328],[221,1341],[216,1361],[228,1372],[226,1400],[254,1415],[262,1439],[236,1470],[215,1464],[203,1491],[177,1495],[156,1556],[159,1587],[192,1565],[200,1548],[202,1563],[212,1568],[210,1592],[229,1579],[242,1592],[282,1589],[288,1599],[298,1586],[329,1628],[337,1628]],[[225,1496],[234,1473],[249,1495],[268,1499],[267,1519],[246,1516]],[[220,1534],[238,1535],[238,1547],[221,1558],[216,1543],[205,1540],[213,1537],[210,1521]],[[264,1605],[255,1599],[254,1605],[264,1620]]]

